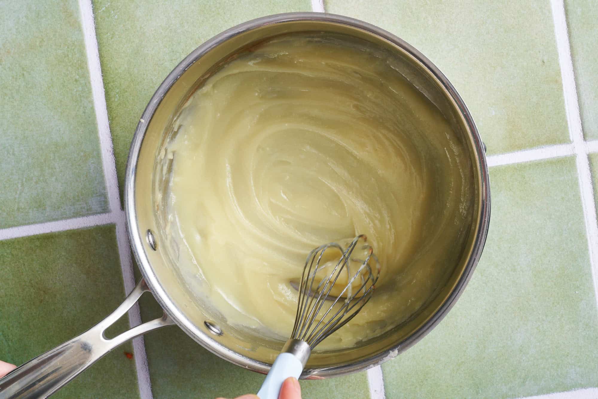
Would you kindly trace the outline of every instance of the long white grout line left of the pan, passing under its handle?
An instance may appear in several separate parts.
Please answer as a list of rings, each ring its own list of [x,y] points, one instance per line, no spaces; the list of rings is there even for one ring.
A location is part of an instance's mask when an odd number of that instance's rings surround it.
[[[91,81],[91,95],[93,97],[93,106],[96,111],[97,131],[100,140],[100,150],[102,153],[102,165],[106,180],[106,191],[108,191],[108,203],[111,213],[114,215],[116,224],[116,235],[118,244],[118,254],[120,256],[120,265],[123,271],[124,290],[129,295],[135,288],[135,276],[133,275],[133,261],[131,259],[131,250],[125,225],[124,211],[120,207],[120,193],[118,191],[118,177],[116,173],[116,163],[114,159],[114,149],[112,147],[112,135],[108,124],[108,108],[106,107],[106,96],[102,79],[102,68],[100,67],[100,56],[97,48],[96,27],[93,20],[93,8],[91,0],[79,0],[81,10],[81,26],[83,28],[83,37],[87,53],[87,66],[89,67],[89,76]],[[129,310],[129,325],[135,327],[141,324],[141,313],[139,305],[135,304]],[[135,367],[137,370],[137,379],[139,394],[142,399],[151,399],[151,381],[149,379],[149,368],[147,362],[147,353],[143,337],[133,340],[133,349],[135,350]]]

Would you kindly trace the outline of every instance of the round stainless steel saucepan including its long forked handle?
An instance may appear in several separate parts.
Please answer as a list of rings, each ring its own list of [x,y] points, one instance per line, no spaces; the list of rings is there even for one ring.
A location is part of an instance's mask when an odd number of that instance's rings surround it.
[[[133,253],[143,279],[111,315],[90,330],[26,362],[0,379],[0,397],[44,397],[68,383],[103,355],[138,335],[176,324],[210,352],[249,370],[267,373],[282,341],[233,328],[209,301],[188,284],[179,267],[176,242],[164,231],[161,192],[167,186],[160,158],[173,132],[173,117],[202,83],[203,77],[252,44],[283,33],[331,32],[346,34],[397,55],[401,73],[447,117],[469,149],[475,180],[474,204],[468,239],[446,286],[408,321],[371,337],[356,347],[312,354],[302,377],[332,377],[365,370],[394,358],[435,325],[451,309],[480,258],[490,217],[490,186],[483,144],[469,111],[446,77],[416,49],[398,37],[359,20],[332,14],[289,13],[255,19],[213,37],[197,47],[158,87],[136,128],[126,171],[124,202]],[[160,319],[133,327],[115,338],[103,332],[151,291],[164,309]]]

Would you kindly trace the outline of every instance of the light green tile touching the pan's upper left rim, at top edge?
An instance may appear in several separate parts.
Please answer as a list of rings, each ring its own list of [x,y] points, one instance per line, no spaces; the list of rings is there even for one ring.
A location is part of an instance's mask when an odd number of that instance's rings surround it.
[[[289,11],[311,11],[309,0],[96,0],[93,2],[118,182],[135,127],[172,69],[204,41],[238,23]]]

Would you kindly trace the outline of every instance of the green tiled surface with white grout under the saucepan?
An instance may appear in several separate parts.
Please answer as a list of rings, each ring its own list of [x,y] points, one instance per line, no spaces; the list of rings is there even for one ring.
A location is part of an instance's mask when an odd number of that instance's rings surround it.
[[[0,2],[0,359],[16,364],[91,327],[124,298],[123,270],[132,265],[120,264],[124,221],[108,206],[90,78],[103,77],[122,189],[138,118],[185,55],[236,23],[312,10],[309,0],[94,1],[101,72],[90,72],[82,4],[89,0]],[[383,365],[383,380],[364,372],[302,381],[304,398],[598,397],[598,203],[588,203],[588,193],[598,198],[597,14],[591,0],[560,4],[325,1],[326,11],[388,29],[437,64],[472,111],[490,164],[501,165],[490,170],[486,249],[446,319]],[[568,32],[555,31],[553,10],[565,13]],[[569,118],[581,119],[587,156],[568,146],[558,35],[570,42],[579,115]],[[562,144],[568,155],[551,158]],[[539,160],[525,162],[528,155]],[[591,179],[579,179],[578,157],[589,160]],[[117,225],[72,221],[102,213]],[[140,306],[144,321],[160,313],[149,294]],[[117,328],[127,325],[124,318]],[[56,397],[233,397],[263,378],[176,327],[144,340],[138,352],[130,343],[114,350]],[[151,389],[140,389],[148,379]]]

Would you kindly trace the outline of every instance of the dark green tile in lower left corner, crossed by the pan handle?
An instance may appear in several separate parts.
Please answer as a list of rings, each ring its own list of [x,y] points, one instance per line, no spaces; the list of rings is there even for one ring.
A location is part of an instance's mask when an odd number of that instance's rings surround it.
[[[124,299],[114,225],[0,241],[0,359],[22,364],[83,333]],[[118,328],[128,328],[127,319]],[[138,398],[130,343],[53,396]]]

